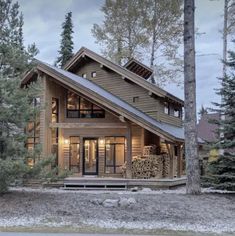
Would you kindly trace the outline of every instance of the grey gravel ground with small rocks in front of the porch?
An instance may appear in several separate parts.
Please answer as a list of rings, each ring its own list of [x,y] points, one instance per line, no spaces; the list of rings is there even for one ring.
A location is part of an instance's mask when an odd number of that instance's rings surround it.
[[[188,196],[184,192],[184,189],[146,189],[135,193],[12,189],[0,196],[0,228],[95,227],[235,233],[234,193],[204,191],[200,196]]]

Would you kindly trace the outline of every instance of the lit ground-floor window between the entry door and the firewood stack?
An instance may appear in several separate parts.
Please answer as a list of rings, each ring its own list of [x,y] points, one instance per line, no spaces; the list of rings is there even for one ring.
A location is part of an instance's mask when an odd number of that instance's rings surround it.
[[[105,173],[122,173],[125,162],[125,137],[105,138]]]

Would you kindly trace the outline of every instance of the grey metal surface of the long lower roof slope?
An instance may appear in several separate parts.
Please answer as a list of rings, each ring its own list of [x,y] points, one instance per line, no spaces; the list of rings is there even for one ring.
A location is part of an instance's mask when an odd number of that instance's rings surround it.
[[[152,117],[148,116],[147,114],[143,113],[142,111],[138,110],[137,108],[131,106],[127,102],[121,100],[119,97],[109,93],[108,91],[104,90],[100,86],[96,85],[95,83],[89,81],[88,79],[82,78],[76,74],[71,72],[65,71],[63,69],[59,69],[57,67],[51,66],[44,62],[39,62],[42,66],[46,66],[50,68],[52,71],[59,73],[62,76],[65,76],[67,79],[89,89],[93,93],[102,96],[103,99],[106,99],[116,106],[126,110],[129,113],[134,114],[135,116],[141,118],[145,122],[149,123],[150,125],[155,126],[156,128],[162,130],[163,132],[168,133],[169,135],[173,136],[176,139],[184,139],[184,129],[176,126],[172,126],[166,123],[159,122]]]

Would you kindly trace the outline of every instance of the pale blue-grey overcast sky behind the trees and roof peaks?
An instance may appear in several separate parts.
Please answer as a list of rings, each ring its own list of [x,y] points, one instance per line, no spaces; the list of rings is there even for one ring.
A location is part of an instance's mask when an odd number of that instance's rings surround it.
[[[214,88],[222,74],[222,36],[224,0],[195,0],[196,27],[202,33],[196,38],[197,107],[211,106],[218,101]],[[103,0],[18,0],[24,14],[25,44],[35,42],[40,50],[38,59],[53,64],[60,44],[61,24],[67,12],[73,13],[74,51],[85,46],[100,53],[92,37],[94,23],[102,23]],[[183,98],[183,90],[167,86],[166,90]]]

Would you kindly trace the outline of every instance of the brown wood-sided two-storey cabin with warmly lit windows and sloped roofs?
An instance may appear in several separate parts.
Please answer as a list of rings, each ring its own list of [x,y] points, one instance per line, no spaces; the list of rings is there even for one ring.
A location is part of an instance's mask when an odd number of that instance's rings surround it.
[[[131,178],[133,160],[166,154],[167,177],[180,177],[184,102],[149,83],[151,74],[135,59],[122,67],[84,47],[63,69],[38,61],[22,80],[22,87],[35,80],[43,87],[28,148],[40,143],[60,168],[99,177],[125,169]]]

